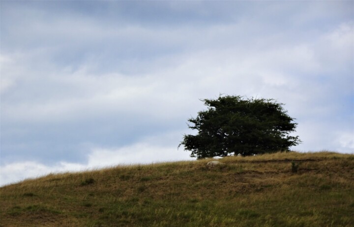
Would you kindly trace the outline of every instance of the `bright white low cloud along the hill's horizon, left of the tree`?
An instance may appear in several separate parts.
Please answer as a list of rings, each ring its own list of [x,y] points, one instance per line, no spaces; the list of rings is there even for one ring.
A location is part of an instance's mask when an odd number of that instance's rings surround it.
[[[148,138],[147,138],[148,139]],[[155,140],[156,138],[152,138]],[[116,165],[149,164],[195,160],[189,153],[171,146],[158,146],[147,142],[121,148],[94,148],[88,155],[86,164],[57,162],[46,165],[40,162],[12,162],[0,167],[0,186],[16,183],[29,178],[37,178],[50,173],[76,172]]]

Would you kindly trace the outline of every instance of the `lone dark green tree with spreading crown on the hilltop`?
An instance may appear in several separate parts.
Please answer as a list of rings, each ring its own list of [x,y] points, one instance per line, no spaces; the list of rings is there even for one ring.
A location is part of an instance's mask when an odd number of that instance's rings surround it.
[[[287,115],[283,103],[274,99],[219,96],[201,99],[208,106],[188,119],[188,128],[198,130],[196,135],[184,134],[184,150],[198,159],[228,155],[258,155],[289,151],[299,144],[294,119]]]

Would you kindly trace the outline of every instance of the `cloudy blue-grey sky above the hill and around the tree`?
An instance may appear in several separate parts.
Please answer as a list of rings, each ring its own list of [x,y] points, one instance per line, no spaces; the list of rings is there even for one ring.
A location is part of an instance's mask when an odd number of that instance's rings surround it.
[[[0,1],[0,185],[193,160],[187,119],[274,98],[299,152],[354,154],[354,1]]]

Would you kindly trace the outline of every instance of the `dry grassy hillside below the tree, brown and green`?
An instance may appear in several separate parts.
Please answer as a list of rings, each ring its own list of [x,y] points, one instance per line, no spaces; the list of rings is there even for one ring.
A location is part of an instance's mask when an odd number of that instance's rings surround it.
[[[50,174],[0,188],[1,227],[353,227],[354,155],[276,153]],[[296,171],[297,170],[297,171]]]

